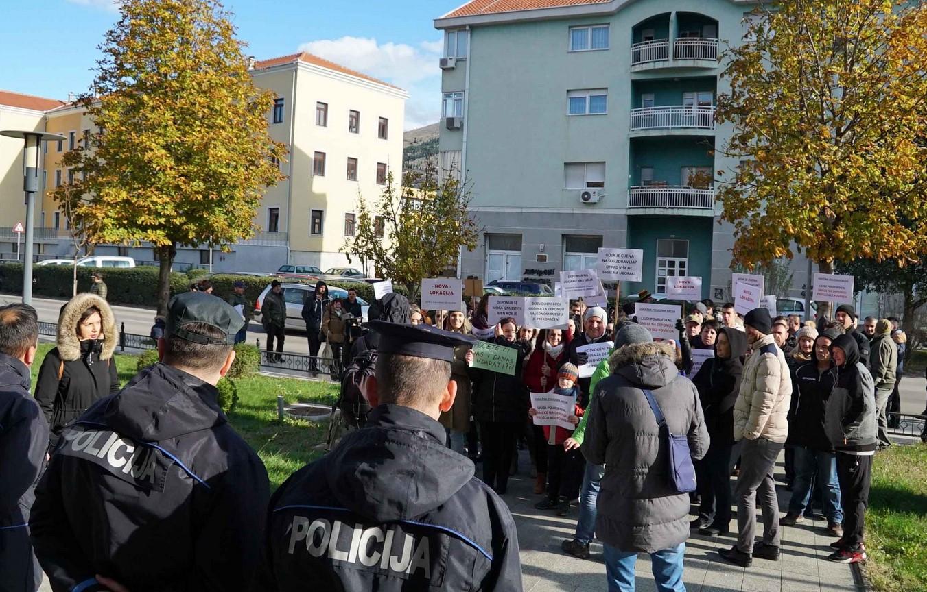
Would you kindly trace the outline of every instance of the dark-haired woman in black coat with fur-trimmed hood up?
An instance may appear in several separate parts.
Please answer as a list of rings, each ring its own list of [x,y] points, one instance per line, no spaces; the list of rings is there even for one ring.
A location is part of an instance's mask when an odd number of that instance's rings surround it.
[[[119,392],[113,351],[116,319],[105,300],[89,292],[65,304],[58,319],[57,347],[45,354],[35,400],[51,427],[52,448],[61,430],[91,404]]]

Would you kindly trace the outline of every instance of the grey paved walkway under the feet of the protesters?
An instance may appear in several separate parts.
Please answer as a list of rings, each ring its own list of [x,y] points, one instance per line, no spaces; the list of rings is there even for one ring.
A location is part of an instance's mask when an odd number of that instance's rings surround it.
[[[560,549],[561,541],[573,536],[578,510],[573,508],[565,518],[552,511],[535,510],[534,503],[540,497],[531,493],[534,480],[524,473],[527,454],[523,453],[520,461],[522,473],[510,480],[505,500],[518,526],[525,591],[605,590],[602,545],[593,542],[590,560],[576,559]],[[476,469],[479,475],[479,465]],[[784,512],[790,494],[784,487],[777,487],[777,491]],[[732,521],[731,526],[736,524]],[[717,554],[717,549],[734,544],[733,536],[692,536],[686,543],[683,578],[686,589],[689,592],[855,592],[857,586],[850,566],[825,559],[832,552],[828,545],[833,541],[823,536],[825,526],[824,520],[782,526],[781,560],[756,559],[747,569],[730,564]],[[762,529],[762,523],[757,527]],[[656,590],[650,558],[646,555],[641,555],[637,562],[637,590]]]

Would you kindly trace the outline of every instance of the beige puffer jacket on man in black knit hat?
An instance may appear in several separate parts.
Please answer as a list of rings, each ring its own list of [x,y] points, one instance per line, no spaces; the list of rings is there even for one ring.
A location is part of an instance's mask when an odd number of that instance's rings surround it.
[[[771,335],[757,339],[743,364],[741,392],[734,403],[734,439],[767,438],[785,442],[789,435],[792,377],[785,354]]]

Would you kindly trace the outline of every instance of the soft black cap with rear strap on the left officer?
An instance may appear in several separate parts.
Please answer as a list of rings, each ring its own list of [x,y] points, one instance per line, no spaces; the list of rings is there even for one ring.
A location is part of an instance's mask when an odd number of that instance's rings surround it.
[[[215,327],[222,331],[224,336],[222,339],[210,339],[184,328],[192,323]],[[206,292],[181,292],[168,302],[165,333],[173,338],[203,345],[232,345],[235,343],[235,333],[244,326],[244,319],[241,314],[235,312],[231,304]]]

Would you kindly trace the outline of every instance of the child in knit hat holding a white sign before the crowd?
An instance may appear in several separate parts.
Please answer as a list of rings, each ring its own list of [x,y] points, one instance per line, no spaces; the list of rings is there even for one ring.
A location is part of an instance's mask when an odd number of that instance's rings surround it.
[[[553,392],[573,401],[574,414],[569,417],[573,425],[579,423],[583,409],[578,405],[580,401],[579,370],[575,364],[564,364],[557,372],[557,387]],[[527,412],[532,417],[538,410],[531,408]],[[572,435],[571,431],[559,425],[545,425],[544,437],[547,438],[547,498],[534,505],[538,510],[557,509],[558,516],[565,516],[570,510],[570,500],[576,499],[579,491],[579,481],[582,476],[584,461],[578,449],[564,450],[564,441]]]

